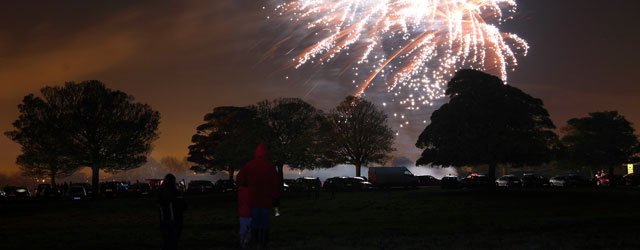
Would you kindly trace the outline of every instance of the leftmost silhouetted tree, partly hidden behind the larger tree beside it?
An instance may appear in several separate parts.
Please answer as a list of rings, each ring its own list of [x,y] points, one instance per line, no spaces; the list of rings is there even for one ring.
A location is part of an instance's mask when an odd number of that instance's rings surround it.
[[[13,123],[15,130],[5,135],[21,146],[22,154],[16,163],[22,174],[48,177],[52,185],[56,184],[56,178],[73,174],[79,166],[63,153],[67,121],[61,120],[60,110],[34,95],[25,96],[18,109],[20,116]]]

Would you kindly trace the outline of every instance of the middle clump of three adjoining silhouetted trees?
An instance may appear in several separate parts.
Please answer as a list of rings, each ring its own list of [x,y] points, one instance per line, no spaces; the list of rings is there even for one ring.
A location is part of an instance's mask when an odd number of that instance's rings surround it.
[[[278,98],[247,107],[217,107],[204,116],[189,146],[198,172],[226,171],[229,178],[265,143],[281,179],[283,167],[329,168],[384,163],[394,135],[386,114],[373,103],[347,97],[324,113],[298,98]]]

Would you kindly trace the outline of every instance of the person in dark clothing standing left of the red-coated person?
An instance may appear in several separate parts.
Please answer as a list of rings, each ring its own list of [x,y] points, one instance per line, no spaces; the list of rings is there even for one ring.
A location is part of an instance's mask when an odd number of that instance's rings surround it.
[[[162,249],[178,249],[182,233],[183,214],[187,209],[182,193],[176,185],[176,177],[167,174],[158,190],[160,205],[160,230],[162,230]]]

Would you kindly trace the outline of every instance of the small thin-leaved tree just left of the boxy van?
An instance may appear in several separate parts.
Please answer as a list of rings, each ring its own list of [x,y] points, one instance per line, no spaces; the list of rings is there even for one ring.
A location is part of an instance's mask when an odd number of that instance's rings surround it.
[[[329,113],[333,125],[331,158],[336,163],[353,164],[356,176],[362,166],[384,163],[394,151],[393,131],[387,115],[373,103],[349,96]]]

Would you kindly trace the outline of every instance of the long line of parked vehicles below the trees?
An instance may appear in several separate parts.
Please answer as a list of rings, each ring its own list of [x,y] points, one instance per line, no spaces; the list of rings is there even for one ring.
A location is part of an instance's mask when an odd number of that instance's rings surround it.
[[[377,169],[371,171],[372,169]],[[486,175],[472,173],[464,178],[457,176],[444,176],[437,179],[430,175],[414,176],[406,168],[372,168],[369,179],[366,177],[337,176],[328,178],[321,183],[317,177],[300,177],[297,179],[285,179],[283,190],[285,192],[319,192],[324,191],[366,191],[373,188],[384,187],[418,187],[440,186],[443,189],[457,188],[481,188],[495,185],[497,188],[544,188],[544,187],[593,187],[593,186],[640,186],[640,174],[627,174],[624,176],[601,175],[587,179],[577,174],[558,175],[546,178],[542,175],[525,173],[518,177],[504,175],[490,183]],[[373,174],[372,174],[373,173]],[[373,178],[372,178],[373,177]],[[373,179],[373,180],[370,180]],[[188,194],[231,193],[237,190],[233,180],[221,179],[215,184],[209,180],[193,180],[188,185],[182,185],[182,189]],[[157,188],[157,187],[156,187]],[[36,199],[69,199],[85,200],[93,197],[91,184],[73,183],[64,189],[51,184],[39,184],[31,191],[21,186],[6,186],[0,190],[0,201],[3,200],[28,200]],[[146,182],[122,182],[110,181],[100,183],[100,193],[105,197],[136,196],[148,197],[153,194],[154,188]]]

